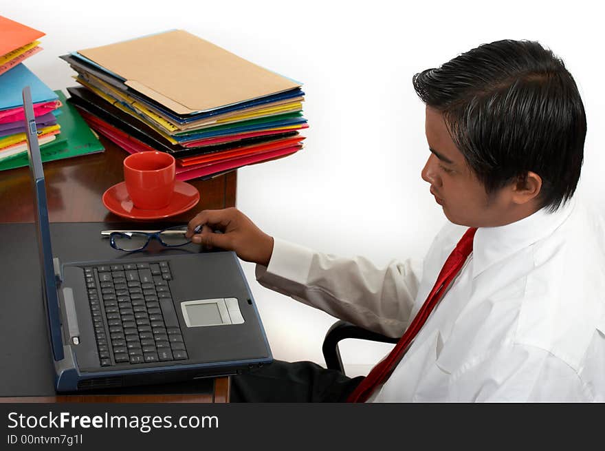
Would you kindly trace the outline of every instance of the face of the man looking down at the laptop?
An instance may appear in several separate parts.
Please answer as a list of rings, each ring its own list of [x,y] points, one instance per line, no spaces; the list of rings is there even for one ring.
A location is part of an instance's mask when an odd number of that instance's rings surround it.
[[[422,169],[422,179],[430,183],[430,192],[448,220],[468,227],[507,224],[510,190],[505,187],[487,196],[483,184],[452,141],[443,115],[436,109],[426,107],[425,128],[431,153]]]

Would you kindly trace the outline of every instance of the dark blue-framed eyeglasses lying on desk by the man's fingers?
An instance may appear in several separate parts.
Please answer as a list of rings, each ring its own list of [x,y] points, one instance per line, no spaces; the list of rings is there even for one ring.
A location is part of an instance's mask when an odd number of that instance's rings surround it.
[[[179,247],[191,242],[185,236],[186,225],[168,227],[159,231],[110,231],[109,244],[118,251],[136,252],[142,251],[152,240],[158,240],[164,247]],[[102,232],[102,235],[107,235]]]

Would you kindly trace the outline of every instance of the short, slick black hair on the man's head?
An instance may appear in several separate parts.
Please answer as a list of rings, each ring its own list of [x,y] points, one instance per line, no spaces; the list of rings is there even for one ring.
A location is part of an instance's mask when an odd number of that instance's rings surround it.
[[[528,171],[540,207],[571,198],[580,178],[586,114],[563,61],[534,41],[479,45],[415,74],[421,100],[443,114],[452,140],[487,194]]]

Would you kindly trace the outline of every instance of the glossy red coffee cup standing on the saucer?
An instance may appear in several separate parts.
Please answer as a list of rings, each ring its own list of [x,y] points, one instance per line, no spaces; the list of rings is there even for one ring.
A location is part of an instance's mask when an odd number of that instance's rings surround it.
[[[175,191],[175,158],[159,151],[144,151],[124,158],[126,191],[137,209],[167,207]]]

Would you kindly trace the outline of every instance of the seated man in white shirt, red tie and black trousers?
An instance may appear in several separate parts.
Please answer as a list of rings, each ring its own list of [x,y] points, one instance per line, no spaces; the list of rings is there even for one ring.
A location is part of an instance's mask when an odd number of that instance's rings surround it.
[[[191,220],[189,236],[205,224],[194,242],[256,262],[263,286],[405,332],[362,381],[277,362],[234,378],[235,397],[603,401],[605,221],[573,198],[586,117],[571,74],[536,42],[497,41],[413,83],[426,104],[422,178],[451,222],[421,275],[409,261],[379,269],[272,238],[235,209]]]

